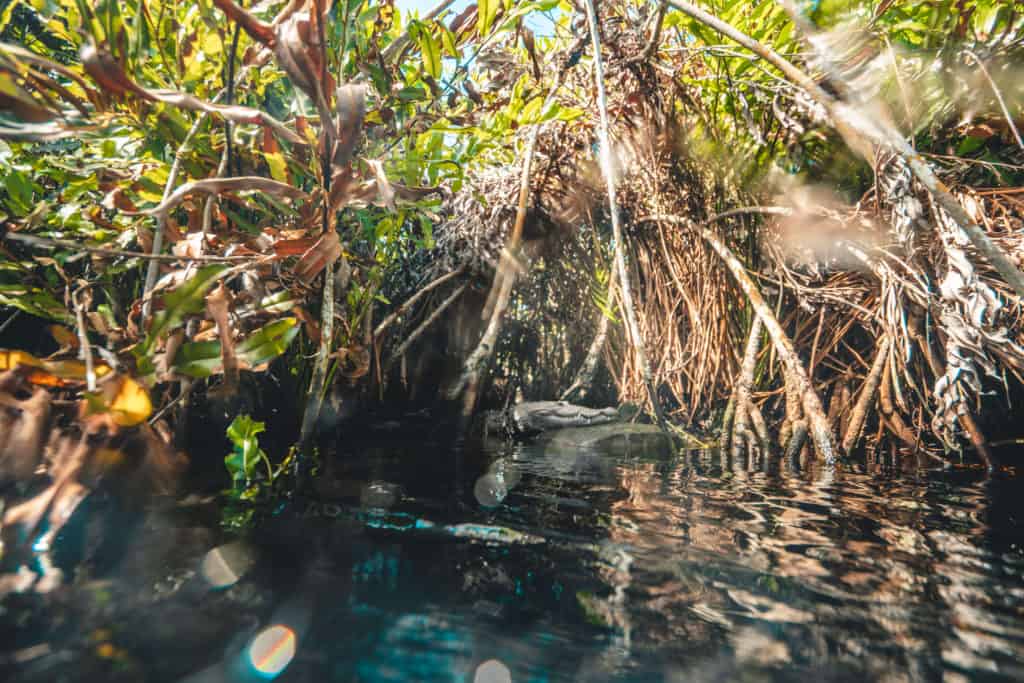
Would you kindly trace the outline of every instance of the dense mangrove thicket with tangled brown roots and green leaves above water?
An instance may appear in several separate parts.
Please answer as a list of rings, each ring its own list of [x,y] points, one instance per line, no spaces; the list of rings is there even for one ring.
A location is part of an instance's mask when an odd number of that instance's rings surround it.
[[[161,480],[200,401],[245,488],[268,401],[516,392],[1013,464],[1013,3],[0,6],[12,476],[137,436]]]

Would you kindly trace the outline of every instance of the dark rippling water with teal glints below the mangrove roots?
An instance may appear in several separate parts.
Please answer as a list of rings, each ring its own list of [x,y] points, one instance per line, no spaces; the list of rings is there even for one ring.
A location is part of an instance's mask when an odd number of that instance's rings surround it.
[[[1019,478],[417,439],[333,462],[241,543],[202,501],[97,508],[84,568],[0,603],[0,679],[1024,680]]]

